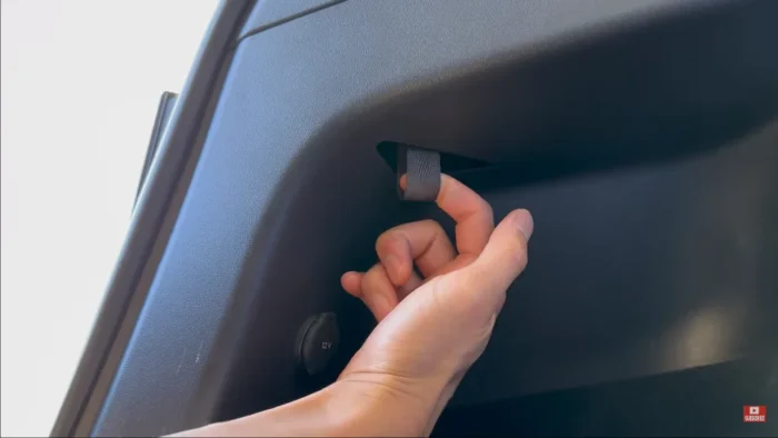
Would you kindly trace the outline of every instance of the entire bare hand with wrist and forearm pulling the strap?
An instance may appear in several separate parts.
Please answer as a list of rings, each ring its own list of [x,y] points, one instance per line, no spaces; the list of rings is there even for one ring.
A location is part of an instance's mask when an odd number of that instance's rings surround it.
[[[457,223],[456,247],[432,220],[400,225],[378,238],[372,268],[342,276],[379,323],[335,384],[177,436],[429,435],[483,352],[533,228],[527,210],[495,227],[489,203],[446,175],[437,203]]]

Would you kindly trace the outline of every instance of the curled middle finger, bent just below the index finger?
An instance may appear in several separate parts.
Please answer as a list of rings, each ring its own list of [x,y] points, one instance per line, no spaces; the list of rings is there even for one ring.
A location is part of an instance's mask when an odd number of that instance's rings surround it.
[[[383,232],[376,252],[395,286],[405,286],[413,273],[413,262],[429,277],[457,257],[440,223],[433,220],[403,223]]]

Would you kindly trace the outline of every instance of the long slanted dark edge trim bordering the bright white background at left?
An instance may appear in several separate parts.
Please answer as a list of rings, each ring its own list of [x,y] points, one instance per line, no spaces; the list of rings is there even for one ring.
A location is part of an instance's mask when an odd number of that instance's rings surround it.
[[[138,205],[116,269],[106,290],[103,302],[73,380],[54,421],[51,436],[73,436],[81,428],[82,412],[98,381],[119,327],[124,321],[128,302],[141,272],[162,219],[168,213],[171,193],[181,176],[194,135],[203,122],[203,109],[213,90],[213,79],[225,60],[227,48],[245,18],[242,1],[222,1],[194,58],[171,117],[170,127],[161,138],[158,159],[152,161],[148,181],[140,190]]]

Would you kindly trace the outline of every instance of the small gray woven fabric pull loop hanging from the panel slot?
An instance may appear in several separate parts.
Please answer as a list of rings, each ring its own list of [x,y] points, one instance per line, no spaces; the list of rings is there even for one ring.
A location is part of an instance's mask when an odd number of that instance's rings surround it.
[[[403,175],[407,176],[405,190],[400,188]],[[397,190],[403,201],[435,201],[440,191],[440,153],[398,145]]]

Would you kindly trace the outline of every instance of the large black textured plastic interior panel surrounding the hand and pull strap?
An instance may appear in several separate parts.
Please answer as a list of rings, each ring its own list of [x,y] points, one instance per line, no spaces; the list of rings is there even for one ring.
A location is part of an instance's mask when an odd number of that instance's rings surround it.
[[[342,365],[370,318],[340,273],[430,215],[397,200],[385,140],[499,163],[469,182],[498,215],[536,213],[529,270],[457,402],[775,347],[776,137],[738,139],[777,112],[777,2],[401,4],[349,1],[240,43],[99,434],[326,382],[295,374],[297,329],[335,310]]]

